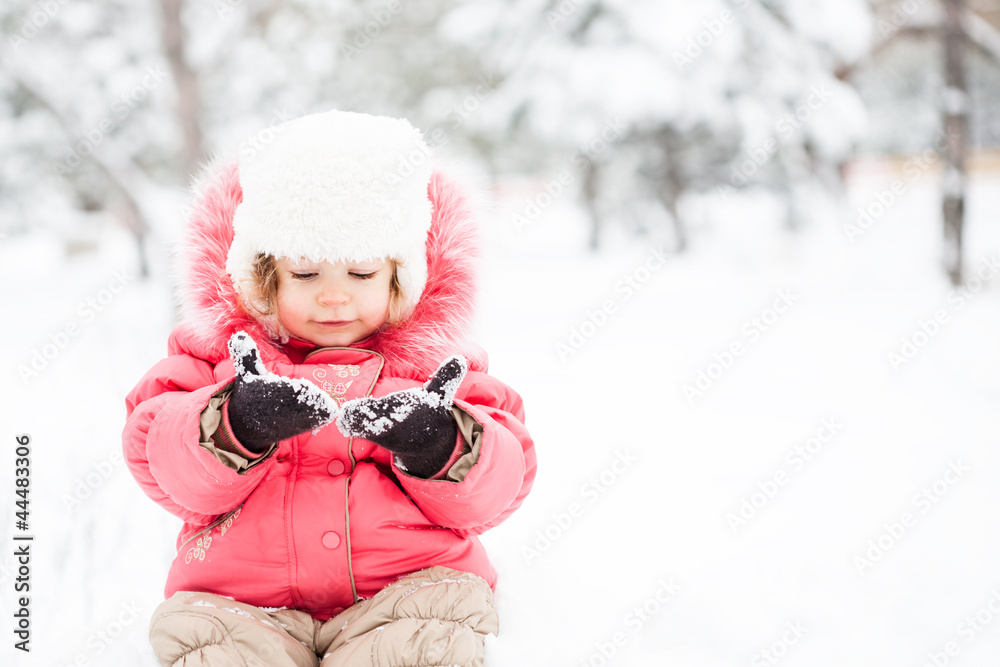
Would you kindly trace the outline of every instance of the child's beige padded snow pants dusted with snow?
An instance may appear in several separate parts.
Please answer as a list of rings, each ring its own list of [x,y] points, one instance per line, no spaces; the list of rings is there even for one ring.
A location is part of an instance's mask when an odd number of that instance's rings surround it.
[[[170,667],[482,667],[497,632],[489,584],[445,567],[407,575],[328,621],[179,591],[150,621]]]

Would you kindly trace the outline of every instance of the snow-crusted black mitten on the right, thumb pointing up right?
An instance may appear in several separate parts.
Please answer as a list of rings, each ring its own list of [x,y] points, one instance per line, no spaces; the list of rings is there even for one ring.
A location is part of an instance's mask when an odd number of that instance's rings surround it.
[[[455,451],[458,425],[451,406],[467,370],[464,357],[448,357],[423,388],[348,401],[337,416],[337,428],[385,447],[407,473],[430,477]]]

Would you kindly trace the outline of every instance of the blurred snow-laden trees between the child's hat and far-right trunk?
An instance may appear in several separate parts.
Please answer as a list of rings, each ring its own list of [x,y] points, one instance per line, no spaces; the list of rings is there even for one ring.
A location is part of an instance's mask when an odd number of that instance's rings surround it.
[[[547,182],[573,165],[595,246],[602,221],[641,228],[659,209],[683,247],[685,195],[767,186],[795,225],[802,190],[836,188],[864,127],[836,73],[870,22],[860,0],[521,0],[456,10],[446,34],[498,63],[475,121],[495,164]]]

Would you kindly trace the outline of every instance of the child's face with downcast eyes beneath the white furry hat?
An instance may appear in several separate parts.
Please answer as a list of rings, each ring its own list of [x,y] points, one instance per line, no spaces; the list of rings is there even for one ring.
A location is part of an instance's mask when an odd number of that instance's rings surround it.
[[[392,264],[279,259],[278,320],[319,347],[346,347],[374,333],[389,316]]]

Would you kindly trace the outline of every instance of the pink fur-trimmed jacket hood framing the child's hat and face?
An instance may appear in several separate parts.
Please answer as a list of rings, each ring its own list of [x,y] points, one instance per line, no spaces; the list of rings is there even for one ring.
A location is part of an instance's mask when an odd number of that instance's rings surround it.
[[[181,351],[218,363],[229,356],[230,336],[243,330],[257,341],[264,361],[285,356],[288,346],[240,304],[226,258],[233,242],[233,215],[242,201],[236,160],[209,165],[195,184],[195,201],[179,249],[182,322],[175,335]],[[469,369],[486,371],[486,353],[466,337],[476,298],[478,234],[466,198],[435,172],[427,194],[433,207],[427,236],[427,282],[409,317],[351,347],[378,352],[396,376],[426,380],[451,354]]]

